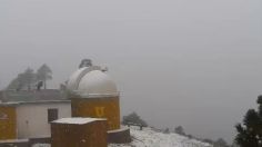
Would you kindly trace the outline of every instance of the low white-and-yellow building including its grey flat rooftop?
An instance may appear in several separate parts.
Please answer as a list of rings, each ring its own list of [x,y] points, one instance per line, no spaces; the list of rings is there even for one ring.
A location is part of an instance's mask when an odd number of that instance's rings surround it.
[[[53,94],[6,91],[0,102],[0,140],[50,137],[51,121],[71,117],[70,100]]]

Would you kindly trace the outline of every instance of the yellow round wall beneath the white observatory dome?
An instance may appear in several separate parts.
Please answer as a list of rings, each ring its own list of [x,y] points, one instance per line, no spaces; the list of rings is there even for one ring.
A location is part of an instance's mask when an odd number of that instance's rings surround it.
[[[108,130],[120,128],[119,97],[72,98],[72,117],[107,118]]]

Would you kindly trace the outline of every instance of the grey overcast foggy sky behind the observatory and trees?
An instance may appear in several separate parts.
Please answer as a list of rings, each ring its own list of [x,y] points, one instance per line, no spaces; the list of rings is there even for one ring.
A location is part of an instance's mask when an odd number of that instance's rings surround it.
[[[262,94],[262,1],[0,1],[0,88],[42,63],[58,88],[83,58],[109,67],[122,115],[230,141]]]

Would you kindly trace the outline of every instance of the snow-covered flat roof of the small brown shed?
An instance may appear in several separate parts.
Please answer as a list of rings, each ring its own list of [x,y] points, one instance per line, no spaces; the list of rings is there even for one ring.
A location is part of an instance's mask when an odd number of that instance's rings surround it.
[[[89,124],[92,121],[98,121],[98,120],[107,120],[104,118],[83,118],[83,117],[69,117],[69,118],[61,118],[58,120],[52,121],[53,124],[75,124],[75,125],[83,125],[83,124]]]

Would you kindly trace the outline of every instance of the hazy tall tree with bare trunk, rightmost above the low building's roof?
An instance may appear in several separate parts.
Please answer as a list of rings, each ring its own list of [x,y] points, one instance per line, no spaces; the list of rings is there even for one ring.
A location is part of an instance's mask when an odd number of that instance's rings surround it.
[[[46,63],[43,63],[38,69],[37,78],[38,78],[38,80],[43,81],[43,87],[44,87],[44,89],[47,89],[47,80],[52,79],[52,70]]]

